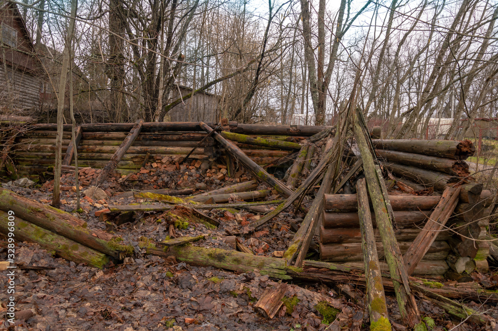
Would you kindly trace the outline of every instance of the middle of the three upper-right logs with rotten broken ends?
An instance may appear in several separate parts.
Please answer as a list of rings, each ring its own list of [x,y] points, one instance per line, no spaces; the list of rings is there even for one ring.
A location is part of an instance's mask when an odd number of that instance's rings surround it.
[[[470,175],[469,165],[463,160],[448,159],[421,154],[398,152],[393,150],[377,149],[377,156],[388,163],[398,163],[412,167],[443,172],[452,176],[466,177]]]

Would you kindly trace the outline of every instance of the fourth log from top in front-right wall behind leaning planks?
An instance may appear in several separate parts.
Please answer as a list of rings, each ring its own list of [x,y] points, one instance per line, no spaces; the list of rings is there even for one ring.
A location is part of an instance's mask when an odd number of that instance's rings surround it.
[[[399,250],[401,253],[406,252],[408,247],[411,245],[411,241],[398,241]],[[434,259],[444,259],[441,258],[441,253],[448,252],[451,250],[450,246],[446,241],[434,241],[429,247],[425,255],[426,260]],[[381,242],[377,242],[377,252],[379,260],[384,258],[384,248]],[[433,254],[430,255],[429,254]],[[350,243],[340,243],[340,244],[322,244],[320,243],[320,260],[330,261],[330,262],[346,262],[346,261],[358,261],[362,259],[362,244],[360,242],[350,242]]]

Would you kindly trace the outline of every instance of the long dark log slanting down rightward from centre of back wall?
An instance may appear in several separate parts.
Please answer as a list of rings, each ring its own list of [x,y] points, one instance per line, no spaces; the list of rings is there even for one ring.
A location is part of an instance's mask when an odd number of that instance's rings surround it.
[[[208,133],[213,131],[211,127],[206,125],[204,122],[200,122],[201,127]],[[229,152],[232,154],[242,165],[249,170],[255,177],[266,182],[271,188],[277,190],[284,196],[288,197],[292,195],[292,190],[287,188],[283,183],[277,180],[272,175],[268,174],[263,168],[258,166],[254,161],[252,161],[239,147],[235,146],[227,139],[223,138],[219,133],[215,132],[214,138]]]

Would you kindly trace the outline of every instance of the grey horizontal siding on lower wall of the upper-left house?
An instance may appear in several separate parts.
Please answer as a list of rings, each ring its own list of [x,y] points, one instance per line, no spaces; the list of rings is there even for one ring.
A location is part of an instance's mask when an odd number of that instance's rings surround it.
[[[0,65],[0,104],[13,108],[35,108],[40,105],[40,79]]]

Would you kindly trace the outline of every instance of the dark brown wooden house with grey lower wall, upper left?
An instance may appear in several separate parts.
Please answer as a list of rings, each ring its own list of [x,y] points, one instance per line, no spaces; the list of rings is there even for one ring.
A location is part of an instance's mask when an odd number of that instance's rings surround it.
[[[0,106],[38,110],[43,79],[40,61],[17,6],[0,0]]]

